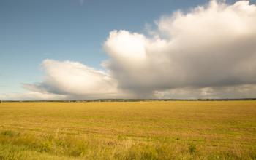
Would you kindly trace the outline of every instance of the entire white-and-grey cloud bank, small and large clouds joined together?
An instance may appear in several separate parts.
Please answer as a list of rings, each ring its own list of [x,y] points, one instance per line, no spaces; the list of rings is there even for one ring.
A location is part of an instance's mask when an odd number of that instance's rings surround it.
[[[255,5],[211,1],[155,25],[146,34],[111,31],[105,71],[44,60],[44,81],[24,87],[60,99],[255,97]]]

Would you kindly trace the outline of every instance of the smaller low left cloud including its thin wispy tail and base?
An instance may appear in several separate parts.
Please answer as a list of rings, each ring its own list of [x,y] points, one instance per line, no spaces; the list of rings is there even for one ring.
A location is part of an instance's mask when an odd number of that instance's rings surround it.
[[[77,62],[44,60],[45,80],[39,84],[24,84],[32,92],[66,95],[71,99],[110,98],[124,94],[108,73]],[[126,95],[128,96],[128,95]]]

